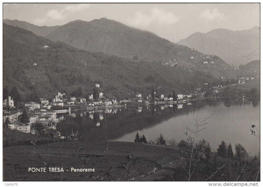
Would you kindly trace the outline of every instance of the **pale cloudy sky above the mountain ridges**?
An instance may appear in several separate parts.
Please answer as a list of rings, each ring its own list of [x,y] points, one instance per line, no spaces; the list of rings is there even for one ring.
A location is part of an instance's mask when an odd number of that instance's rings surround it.
[[[207,33],[217,28],[248,30],[260,26],[260,4],[3,4],[3,19],[37,26],[103,17],[176,43],[195,32]]]

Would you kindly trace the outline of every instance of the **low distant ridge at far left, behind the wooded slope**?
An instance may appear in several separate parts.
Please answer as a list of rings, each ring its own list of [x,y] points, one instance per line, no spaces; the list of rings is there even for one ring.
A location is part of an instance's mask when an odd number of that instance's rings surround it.
[[[52,31],[56,30],[57,28],[59,28],[59,26],[51,26],[51,27],[41,26],[40,27],[40,26],[33,25],[31,23],[28,23],[26,21],[9,20],[9,19],[4,19],[3,23],[6,23],[7,25],[15,26],[15,27],[24,28],[26,30],[30,30],[39,36],[45,36],[51,33]]]

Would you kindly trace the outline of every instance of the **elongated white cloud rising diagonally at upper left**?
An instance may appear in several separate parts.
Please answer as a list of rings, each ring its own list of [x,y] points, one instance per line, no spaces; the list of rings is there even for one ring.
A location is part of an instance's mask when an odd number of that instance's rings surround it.
[[[89,4],[71,4],[65,6],[62,10],[52,9],[46,13],[46,16],[44,18],[35,19],[35,23],[43,24],[46,21],[63,20],[68,16],[68,13],[88,9],[89,6]]]

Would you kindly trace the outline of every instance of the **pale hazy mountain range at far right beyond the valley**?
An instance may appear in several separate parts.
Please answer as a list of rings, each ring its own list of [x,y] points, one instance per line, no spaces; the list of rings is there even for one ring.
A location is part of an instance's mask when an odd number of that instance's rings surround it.
[[[260,28],[249,30],[215,29],[208,33],[196,32],[178,44],[205,54],[214,54],[234,66],[260,59]]]

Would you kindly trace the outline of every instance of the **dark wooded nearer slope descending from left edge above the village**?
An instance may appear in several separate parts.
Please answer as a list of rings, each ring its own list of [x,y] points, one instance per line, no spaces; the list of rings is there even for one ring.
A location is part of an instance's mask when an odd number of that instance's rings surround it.
[[[39,45],[50,47],[44,49]],[[150,94],[158,85],[162,86],[157,90],[159,93],[172,94],[173,90],[185,93],[197,86],[204,88],[204,82],[215,82],[208,72],[189,72],[159,62],[132,61],[78,50],[6,24],[3,24],[3,46],[3,86],[7,85],[9,90],[16,86],[22,98],[31,92],[49,98],[56,91],[71,93],[79,86],[85,96],[93,92],[94,82],[101,84],[109,98],[131,98],[135,92]],[[151,76],[154,79],[149,79]]]

